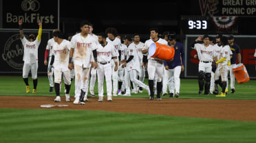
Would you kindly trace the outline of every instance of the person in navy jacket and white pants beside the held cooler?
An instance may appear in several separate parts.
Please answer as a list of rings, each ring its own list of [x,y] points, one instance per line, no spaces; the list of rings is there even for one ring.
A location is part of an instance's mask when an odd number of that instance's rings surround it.
[[[174,47],[175,54],[173,57],[173,61],[164,61],[164,81],[167,82],[162,84],[162,92],[164,93],[167,91],[167,83],[169,81],[170,97],[173,97],[173,93],[175,93],[174,96],[178,98],[180,95],[180,73],[181,71],[184,71],[185,54],[183,44],[180,42],[176,42],[175,38],[175,32],[170,32],[168,36],[168,42],[171,47]]]

